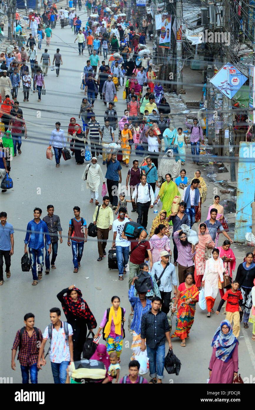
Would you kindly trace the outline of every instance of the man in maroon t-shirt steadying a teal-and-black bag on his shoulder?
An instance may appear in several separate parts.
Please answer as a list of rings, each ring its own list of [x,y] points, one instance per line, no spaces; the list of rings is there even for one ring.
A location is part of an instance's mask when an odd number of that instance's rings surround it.
[[[129,260],[129,289],[131,287],[131,282],[135,276],[138,276],[140,271],[140,263],[144,262],[144,259],[149,256],[150,267],[152,268],[152,256],[151,256],[151,246],[147,238],[146,230],[142,230],[138,239],[131,240],[131,253]],[[122,238],[130,240],[127,238],[122,231]],[[147,252],[146,252],[147,251]],[[148,253],[148,256],[146,255]]]

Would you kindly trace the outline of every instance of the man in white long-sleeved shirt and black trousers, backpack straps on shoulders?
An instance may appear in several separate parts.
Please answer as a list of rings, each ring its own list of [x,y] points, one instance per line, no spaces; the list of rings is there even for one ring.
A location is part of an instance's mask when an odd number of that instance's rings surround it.
[[[149,208],[153,208],[155,200],[153,189],[147,184],[146,175],[141,175],[141,183],[136,185],[132,195],[132,202],[137,198],[136,206],[138,211],[137,223],[140,223],[144,229],[147,228]]]

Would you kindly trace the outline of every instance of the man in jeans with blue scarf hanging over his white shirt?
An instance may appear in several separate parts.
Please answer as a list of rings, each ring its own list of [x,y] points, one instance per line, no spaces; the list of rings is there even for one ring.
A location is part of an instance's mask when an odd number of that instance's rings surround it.
[[[191,185],[184,188],[183,191],[183,201],[187,204],[185,214],[189,218],[190,228],[192,228],[192,225],[194,225],[195,223],[196,206],[198,206],[198,212],[199,214],[201,214],[201,200],[198,189],[199,184],[199,179],[194,178],[191,182]]]

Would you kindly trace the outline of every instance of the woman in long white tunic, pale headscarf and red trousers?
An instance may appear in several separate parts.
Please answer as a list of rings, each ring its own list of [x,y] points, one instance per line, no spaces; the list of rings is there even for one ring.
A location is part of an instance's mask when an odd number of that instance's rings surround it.
[[[219,289],[219,278],[223,282],[224,265],[219,257],[219,249],[214,248],[210,259],[205,262],[205,273],[202,279],[202,286],[205,288],[205,299],[207,304],[207,317],[214,313],[212,310]]]

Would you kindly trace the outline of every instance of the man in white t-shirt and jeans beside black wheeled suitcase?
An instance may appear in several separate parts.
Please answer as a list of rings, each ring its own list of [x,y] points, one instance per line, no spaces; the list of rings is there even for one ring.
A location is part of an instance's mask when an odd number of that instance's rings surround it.
[[[126,209],[120,207],[119,217],[113,221],[113,248],[116,248],[119,280],[123,280],[123,273],[126,273],[126,266],[129,262],[130,241],[122,238],[121,235],[125,223],[130,221],[132,219],[126,214]]]

